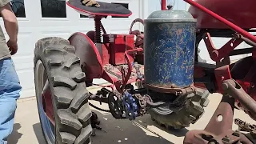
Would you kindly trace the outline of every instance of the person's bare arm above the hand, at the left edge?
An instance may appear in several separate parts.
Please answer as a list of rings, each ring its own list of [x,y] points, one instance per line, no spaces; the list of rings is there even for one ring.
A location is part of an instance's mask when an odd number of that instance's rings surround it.
[[[18,22],[13,10],[10,7],[9,0],[0,0],[0,13],[4,21],[6,32],[10,38],[9,41],[17,42]]]

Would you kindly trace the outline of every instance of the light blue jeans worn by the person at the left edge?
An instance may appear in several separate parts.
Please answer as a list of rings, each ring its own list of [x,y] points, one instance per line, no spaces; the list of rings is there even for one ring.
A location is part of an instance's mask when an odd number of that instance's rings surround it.
[[[0,60],[0,144],[6,144],[7,137],[12,133],[16,100],[21,90],[12,59]]]

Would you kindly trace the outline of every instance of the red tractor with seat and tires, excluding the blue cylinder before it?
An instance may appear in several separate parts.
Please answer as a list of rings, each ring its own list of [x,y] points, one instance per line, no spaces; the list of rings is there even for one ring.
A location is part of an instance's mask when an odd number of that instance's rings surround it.
[[[194,86],[186,89],[170,88],[169,90],[176,95],[161,92],[154,94],[152,92],[150,95],[145,89],[144,34],[139,30],[132,30],[135,22],[143,24],[142,19],[138,18],[132,22],[129,34],[107,34],[102,26],[102,18],[128,17],[132,14],[130,10],[106,2],[88,1],[92,2],[91,6],[84,6],[78,0],[66,2],[80,14],[94,18],[95,30],[87,34],[74,33],[68,40],[51,37],[42,38],[36,43],[35,88],[46,142],[90,143],[90,135],[93,129],[98,127],[97,115],[91,113],[90,106],[98,110],[102,109],[92,105],[88,100],[108,103],[110,110],[104,111],[110,112],[114,118],[132,120],[150,113],[158,123],[181,129],[201,118],[204,113],[203,107],[209,102],[207,96],[210,92],[223,94],[222,102],[206,129],[189,131],[184,143],[252,143],[242,133],[232,130],[232,122],[234,106],[256,119],[254,101],[256,38],[249,33],[254,32],[251,28],[256,26],[256,22],[248,20],[255,18],[256,11],[250,6],[255,6],[256,2],[250,0],[246,4],[250,8],[241,8],[240,11],[246,14],[246,18],[242,19],[242,16],[235,17],[233,12],[224,10],[225,6],[230,4],[233,5],[230,7],[238,6],[238,0],[184,1],[190,3],[189,12],[198,21]],[[162,0],[162,10],[166,10],[164,0]],[[225,18],[220,15],[225,15]],[[221,49],[216,49],[211,36],[230,38],[230,41]],[[210,58],[216,62],[216,65],[199,62],[198,44],[202,39],[206,43]],[[242,42],[252,47],[234,50]],[[238,54],[252,54],[252,56],[231,64],[230,56]],[[93,83],[94,78],[103,78],[110,82],[110,85],[102,86],[97,94],[91,94],[86,87],[96,85]],[[132,85],[134,82],[137,89]],[[182,103],[178,106],[171,106],[178,104],[174,102],[181,101],[180,97],[177,97],[178,93],[192,94],[192,96],[182,99]],[[168,102],[155,101],[156,97],[152,95],[158,94]],[[164,108],[166,103],[169,105],[167,109]],[[174,110],[177,111],[174,113]],[[223,117],[222,121],[217,120],[220,115]],[[242,121],[236,122],[239,126],[242,125]],[[252,127],[250,128],[250,132],[254,131]]]

